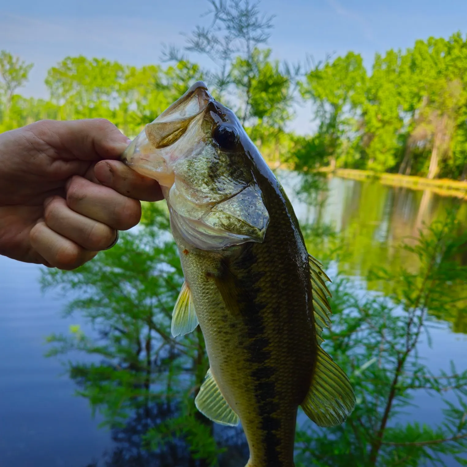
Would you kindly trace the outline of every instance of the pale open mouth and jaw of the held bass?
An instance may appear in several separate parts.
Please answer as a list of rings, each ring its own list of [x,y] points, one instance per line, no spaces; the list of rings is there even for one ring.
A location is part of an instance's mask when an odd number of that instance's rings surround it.
[[[188,132],[186,141],[192,143],[200,139],[199,130],[191,123],[203,118],[212,100],[205,83],[197,81],[144,127],[123,153],[122,161],[142,175],[156,179],[162,186],[170,187],[174,182],[172,165],[187,149],[180,142],[181,136]]]

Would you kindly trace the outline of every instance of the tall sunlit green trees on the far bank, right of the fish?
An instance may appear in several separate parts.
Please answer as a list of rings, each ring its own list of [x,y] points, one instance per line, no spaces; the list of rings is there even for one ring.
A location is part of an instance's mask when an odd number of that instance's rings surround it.
[[[465,179],[466,72],[460,33],[377,53],[368,77],[353,52],[314,66],[300,91],[314,104],[322,161]]]

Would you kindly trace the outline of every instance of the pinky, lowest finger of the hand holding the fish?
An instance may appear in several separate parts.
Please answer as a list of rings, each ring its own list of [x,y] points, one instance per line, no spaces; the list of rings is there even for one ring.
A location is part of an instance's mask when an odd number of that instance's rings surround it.
[[[31,245],[48,262],[48,266],[71,270],[97,255],[50,229],[43,219],[37,221],[29,233]]]

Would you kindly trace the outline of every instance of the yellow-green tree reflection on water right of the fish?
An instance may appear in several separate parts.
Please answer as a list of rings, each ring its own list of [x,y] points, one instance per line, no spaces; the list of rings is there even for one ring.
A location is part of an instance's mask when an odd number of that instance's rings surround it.
[[[346,255],[339,270],[347,276],[366,278],[371,269],[383,266],[394,272],[402,265],[416,273],[417,257],[401,247],[414,245],[420,230],[426,231],[436,219],[443,219],[450,209],[458,209],[458,236],[467,232],[467,202],[442,197],[432,191],[415,191],[383,185],[377,181],[357,181],[338,177],[313,181],[316,177],[283,172],[279,175],[292,198],[306,234],[335,230],[342,238]],[[322,183],[319,195],[306,197],[303,187]],[[319,250],[309,244],[311,254]],[[467,244],[460,247],[455,261],[467,265]],[[368,281],[369,290],[387,291],[387,284]],[[453,306],[438,318],[449,321],[454,332],[467,333],[465,290],[451,289]],[[462,299],[464,297],[464,299]]]

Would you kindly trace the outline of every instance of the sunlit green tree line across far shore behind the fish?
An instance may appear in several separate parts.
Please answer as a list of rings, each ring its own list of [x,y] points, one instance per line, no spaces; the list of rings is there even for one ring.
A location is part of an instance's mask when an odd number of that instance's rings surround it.
[[[44,118],[104,117],[131,137],[205,79],[271,163],[466,179],[467,40],[460,33],[377,53],[370,70],[354,52],[292,66],[266,48],[272,18],[245,2],[212,6],[211,27],[195,28],[181,50],[167,48],[162,64],[66,57],[47,73],[48,99],[21,96],[33,64],[1,51],[0,131]],[[193,53],[212,66],[200,67]],[[297,103],[311,108],[314,134],[290,131]]]

